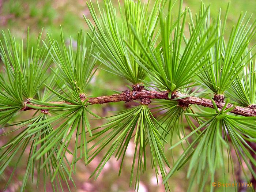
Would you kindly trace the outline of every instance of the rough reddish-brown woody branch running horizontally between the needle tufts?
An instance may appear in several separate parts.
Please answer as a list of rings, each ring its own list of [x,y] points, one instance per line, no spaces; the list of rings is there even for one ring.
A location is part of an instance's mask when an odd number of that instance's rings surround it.
[[[176,91],[172,93],[172,98],[169,99],[168,93],[169,93],[168,91],[147,91],[144,89],[139,90],[139,91],[126,90],[120,94],[113,94],[113,95],[107,95],[107,96],[101,96],[101,97],[90,97],[90,98],[82,97],[81,101],[88,99],[89,105],[95,105],[95,104],[120,102],[120,101],[129,102],[129,101],[134,101],[137,99],[140,99],[140,100],[142,100],[142,99],[171,100],[171,99],[178,98],[178,97],[185,97],[185,98],[176,100],[180,104],[181,107],[195,104],[195,105],[200,105],[200,106],[204,106],[207,108],[214,108],[211,99],[199,98],[199,97],[193,97],[193,96],[186,97],[187,95],[182,94],[182,93],[177,93]],[[29,103],[31,106],[40,106],[40,107],[46,107],[46,108],[52,107],[52,106],[45,106],[45,105],[36,105],[36,104],[31,103],[30,101],[27,101],[27,103]],[[66,104],[72,105],[72,103],[65,102],[65,101],[51,102],[51,104],[54,104],[54,103],[56,103],[56,104],[66,103]],[[223,106],[225,105],[225,102],[215,101],[215,103],[218,106],[218,108],[220,108],[220,109],[222,109]],[[231,108],[231,107],[234,107],[234,109],[230,111],[231,113],[238,114],[241,116],[256,116],[256,109],[234,106],[229,103],[227,105],[227,108]],[[33,109],[33,108],[27,107],[26,103],[25,103],[25,106],[22,109],[22,111],[26,111],[26,110],[30,110],[30,109]]]

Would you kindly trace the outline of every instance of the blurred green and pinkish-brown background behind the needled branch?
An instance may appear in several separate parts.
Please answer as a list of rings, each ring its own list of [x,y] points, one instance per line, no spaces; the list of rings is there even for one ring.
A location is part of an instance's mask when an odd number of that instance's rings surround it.
[[[122,0],[121,4],[123,3]],[[146,2],[146,0],[144,0]],[[103,6],[103,0],[99,0],[100,4]],[[112,1],[117,6],[117,1]],[[151,0],[151,3],[154,1]],[[95,3],[95,1],[93,1]],[[204,0],[205,4],[210,4],[211,19],[217,17],[219,8],[222,8],[223,14],[226,9],[228,0]],[[96,4],[96,3],[95,3]],[[199,11],[200,0],[184,0],[183,4],[188,6],[193,15]],[[178,10],[178,9],[174,9]],[[248,15],[254,14],[252,20],[255,19],[256,15],[256,0],[231,0],[230,11],[227,18],[226,30],[231,31],[231,27],[236,23],[240,12],[247,11]],[[30,27],[31,39],[30,42],[33,44],[36,42],[36,37],[38,33],[44,27],[44,33],[49,31],[53,39],[59,39],[60,36],[60,25],[63,28],[64,34],[67,37],[71,35],[73,39],[76,39],[76,34],[82,27],[84,30],[87,29],[86,23],[83,19],[83,14],[90,18],[90,12],[86,6],[86,0],[0,0],[0,29],[5,32],[10,29],[11,33],[15,35],[16,40],[24,39],[26,40],[27,27]],[[174,11],[173,15],[177,13]],[[2,37],[0,37],[1,39]],[[256,37],[254,42],[256,42]],[[120,79],[117,76],[109,75],[103,70],[97,71],[95,79],[91,86],[91,95],[100,96],[106,94],[113,94],[112,90],[125,90],[127,87],[127,82]],[[97,89],[93,89],[97,87]],[[118,103],[118,104],[106,104],[102,106],[93,106],[94,112],[99,116],[110,115],[109,111],[120,110],[122,108],[128,108],[131,105],[136,105],[136,103]],[[29,118],[31,112],[24,112],[19,118]],[[92,127],[101,125],[103,120],[92,120]],[[6,128],[9,129],[9,128]],[[0,130],[1,131],[1,130]],[[0,146],[9,140],[10,138],[1,138]],[[109,163],[106,164],[104,170],[102,171],[99,178],[94,181],[93,179],[88,180],[90,174],[93,172],[98,162],[101,161],[101,155],[95,158],[88,166],[84,166],[83,162],[78,163],[77,173],[74,176],[76,188],[72,187],[71,191],[78,192],[119,192],[119,191],[133,191],[133,188],[129,188],[129,176],[130,167],[132,164],[132,151],[134,150],[134,144],[131,142],[127,151],[127,158],[124,165],[124,169],[120,177],[118,177],[118,170],[120,162],[116,161],[115,158],[111,158]],[[174,151],[174,155],[178,157],[181,154],[178,148]],[[27,151],[29,153],[29,151]],[[166,157],[168,157],[168,153]],[[170,157],[170,156],[169,156]],[[70,157],[71,158],[71,157]],[[7,168],[4,176],[0,176],[0,191],[4,191],[4,186],[6,184],[6,178],[12,172],[12,166]],[[23,163],[18,166],[18,171],[16,171],[15,176],[5,192],[19,191],[19,186],[21,185],[23,174],[26,167],[26,157]],[[178,173],[176,173],[169,181],[170,187],[173,192],[183,192],[187,190],[188,180],[186,179],[186,166],[184,166]],[[8,179],[7,179],[8,180]],[[146,174],[143,174],[140,182],[140,192],[162,192],[164,191],[163,185],[157,186],[157,182],[154,176],[153,170],[148,168]],[[26,191],[43,191],[44,188],[41,186],[36,189],[36,184],[30,181],[27,184]],[[234,191],[234,188],[226,188],[227,191]],[[50,184],[47,186],[47,191],[52,191]],[[195,183],[196,191],[196,183]],[[206,188],[207,191],[207,188]],[[222,189],[217,189],[216,191],[222,191]]]

